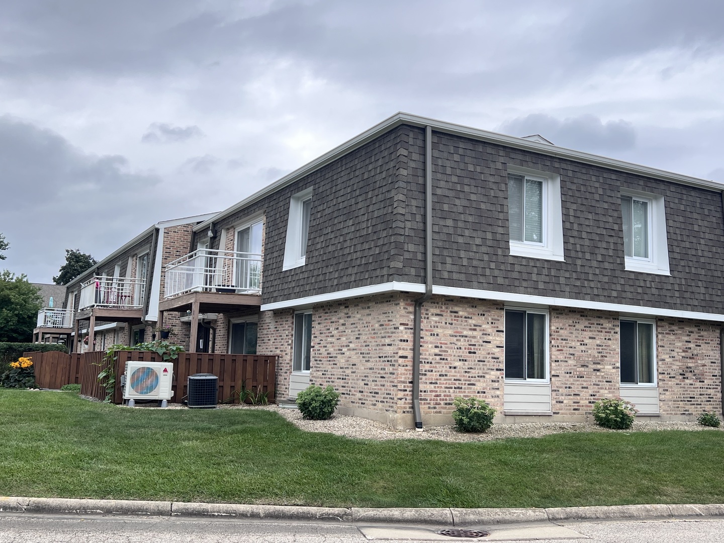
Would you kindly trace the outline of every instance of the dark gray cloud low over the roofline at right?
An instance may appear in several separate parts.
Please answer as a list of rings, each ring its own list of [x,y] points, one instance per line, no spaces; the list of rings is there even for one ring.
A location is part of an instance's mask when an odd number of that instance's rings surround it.
[[[498,130],[517,136],[540,134],[557,146],[579,151],[626,151],[636,145],[636,130],[630,122],[604,123],[594,115],[560,120],[550,115],[530,114],[504,122]]]

